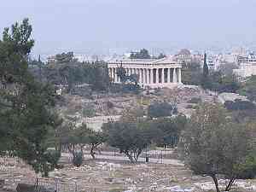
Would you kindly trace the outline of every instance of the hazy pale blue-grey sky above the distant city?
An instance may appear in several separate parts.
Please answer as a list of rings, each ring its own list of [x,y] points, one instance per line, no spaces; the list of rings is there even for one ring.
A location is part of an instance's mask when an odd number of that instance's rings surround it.
[[[256,0],[2,0],[0,30],[28,17],[35,52],[256,42]]]

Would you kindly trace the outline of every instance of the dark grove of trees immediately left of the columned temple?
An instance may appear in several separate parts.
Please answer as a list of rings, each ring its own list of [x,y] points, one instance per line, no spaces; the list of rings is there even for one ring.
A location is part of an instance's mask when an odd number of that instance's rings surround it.
[[[66,59],[49,63],[44,67],[44,76],[53,84],[67,84],[68,92],[79,84],[91,84],[93,90],[108,90],[110,79],[108,65],[105,62],[78,62],[73,55],[66,55]],[[56,55],[58,58],[58,56]],[[72,58],[69,58],[72,57]]]

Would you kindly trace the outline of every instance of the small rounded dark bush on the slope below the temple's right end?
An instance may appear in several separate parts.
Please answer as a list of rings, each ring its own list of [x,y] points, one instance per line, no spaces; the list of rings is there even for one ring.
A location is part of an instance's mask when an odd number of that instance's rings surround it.
[[[172,116],[173,107],[168,102],[155,102],[148,107],[148,117],[168,117]]]

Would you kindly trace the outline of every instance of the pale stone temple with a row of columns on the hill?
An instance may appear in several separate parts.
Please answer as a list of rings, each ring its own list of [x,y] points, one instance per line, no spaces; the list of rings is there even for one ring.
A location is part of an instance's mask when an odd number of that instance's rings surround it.
[[[163,88],[182,84],[182,65],[172,58],[109,61],[108,73],[114,83],[120,83],[118,67],[125,68],[127,75],[137,74],[138,84],[143,88]]]

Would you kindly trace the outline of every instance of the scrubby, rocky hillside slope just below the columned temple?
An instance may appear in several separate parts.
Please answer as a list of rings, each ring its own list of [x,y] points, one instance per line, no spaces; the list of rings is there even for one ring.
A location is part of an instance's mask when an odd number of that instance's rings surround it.
[[[199,98],[202,102],[213,102],[217,96],[197,86],[182,85],[172,89],[144,90],[139,95],[95,93],[89,97],[64,95],[63,98],[64,104],[57,108],[62,117],[79,122],[79,124],[91,123],[93,128],[99,129],[101,124],[108,119],[119,119],[125,108],[139,106],[147,114],[151,103],[169,102],[177,106],[179,113],[189,117],[196,107],[196,103],[189,102],[192,98]]]

